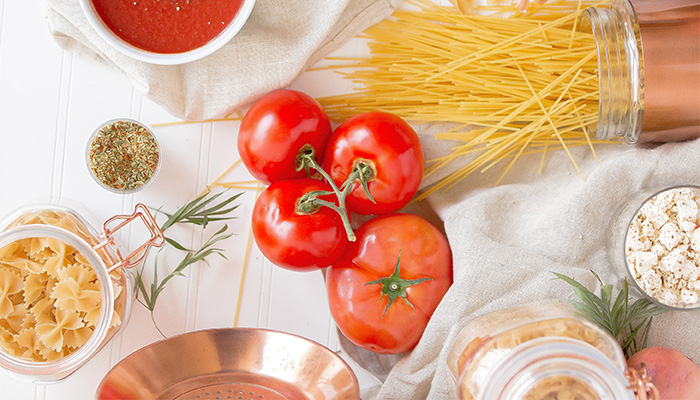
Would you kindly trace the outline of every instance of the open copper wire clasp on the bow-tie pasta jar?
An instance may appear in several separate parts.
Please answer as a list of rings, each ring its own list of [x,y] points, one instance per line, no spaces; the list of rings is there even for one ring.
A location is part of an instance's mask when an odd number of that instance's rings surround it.
[[[113,235],[115,232],[125,227],[136,218],[141,219],[151,237],[148,240],[146,240],[145,243],[139,246],[136,250],[132,251],[129,255],[123,257],[117,246],[115,246]],[[109,225],[111,225],[114,221],[121,222],[119,222],[119,224],[117,224],[115,227],[110,228]],[[107,269],[107,272],[112,272],[113,270],[120,267],[135,267],[146,258],[148,250],[151,247],[160,247],[163,244],[165,244],[165,235],[163,235],[163,231],[161,231],[160,227],[158,227],[156,219],[153,217],[153,214],[151,214],[151,212],[148,210],[148,207],[141,203],[136,204],[133,214],[115,215],[114,217],[105,221],[105,223],[102,224],[102,232],[98,237],[101,240],[101,242],[95,245],[93,247],[93,250],[99,250],[109,245],[110,248],[114,251],[114,255],[116,256],[116,260],[112,260],[114,261],[114,264]],[[106,253],[110,258],[112,258],[109,252]]]

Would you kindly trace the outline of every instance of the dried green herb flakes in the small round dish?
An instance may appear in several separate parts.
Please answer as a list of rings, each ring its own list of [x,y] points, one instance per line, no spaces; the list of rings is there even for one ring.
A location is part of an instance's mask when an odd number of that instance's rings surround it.
[[[94,135],[88,148],[93,176],[119,191],[133,191],[148,183],[158,168],[158,143],[143,125],[114,121]]]

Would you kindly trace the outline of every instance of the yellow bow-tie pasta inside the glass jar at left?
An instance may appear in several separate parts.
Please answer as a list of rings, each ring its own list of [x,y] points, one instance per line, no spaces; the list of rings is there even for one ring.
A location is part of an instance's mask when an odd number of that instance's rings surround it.
[[[53,225],[97,244],[90,231],[69,213],[44,210],[25,214],[19,225]],[[98,254],[110,265],[104,252]],[[124,276],[110,274],[115,311],[111,327],[121,324]],[[0,248],[0,350],[34,362],[59,360],[84,345],[100,318],[102,293],[86,257],[62,240],[33,237]]]

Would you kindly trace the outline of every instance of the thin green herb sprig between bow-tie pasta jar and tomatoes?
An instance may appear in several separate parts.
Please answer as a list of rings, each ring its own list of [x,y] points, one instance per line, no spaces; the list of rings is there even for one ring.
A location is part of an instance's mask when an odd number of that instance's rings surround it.
[[[160,229],[165,233],[165,231],[168,228],[177,224],[194,224],[201,226],[202,228],[206,228],[209,222],[226,221],[235,218],[230,214],[236,208],[238,208],[238,205],[233,205],[233,202],[236,199],[238,199],[241,193],[235,194],[217,202],[219,197],[224,193],[226,192],[217,193],[210,197],[208,197],[209,192],[204,193],[203,195],[180,207],[173,214],[168,214],[164,211],[161,211],[160,209],[157,209],[157,213],[163,214],[168,217],[168,219],[160,226]],[[204,245],[202,245],[202,247],[197,250],[188,249],[182,246],[174,239],[166,236],[165,241],[170,245],[170,247],[178,251],[185,252],[185,257],[182,259],[182,261],[178,263],[178,265],[175,267],[175,269],[172,270],[172,272],[167,274],[163,279],[159,280],[158,255],[161,251],[167,248],[162,247],[155,256],[155,261],[153,263],[153,281],[150,285],[146,285],[144,283],[143,273],[146,263],[144,263],[141,269],[137,271],[136,299],[139,303],[146,307],[148,311],[150,311],[151,320],[153,321],[153,324],[155,325],[156,329],[158,330],[158,332],[160,332],[161,335],[163,335],[163,332],[158,327],[158,324],[156,323],[153,315],[158,296],[163,291],[163,289],[165,289],[165,285],[168,283],[168,281],[170,281],[176,276],[184,276],[183,271],[187,269],[187,267],[196,264],[200,261],[209,264],[208,257],[212,255],[218,255],[226,259],[226,256],[223,253],[223,249],[216,247],[216,244],[233,236],[232,233],[227,233],[227,230],[228,225],[224,225],[221,229],[212,234],[209,237],[209,239],[204,243]]]

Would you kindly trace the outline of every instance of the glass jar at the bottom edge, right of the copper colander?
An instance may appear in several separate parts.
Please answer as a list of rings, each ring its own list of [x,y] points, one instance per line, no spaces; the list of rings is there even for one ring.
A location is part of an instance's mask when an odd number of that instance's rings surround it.
[[[472,320],[447,361],[462,400],[635,399],[615,339],[557,301]]]

